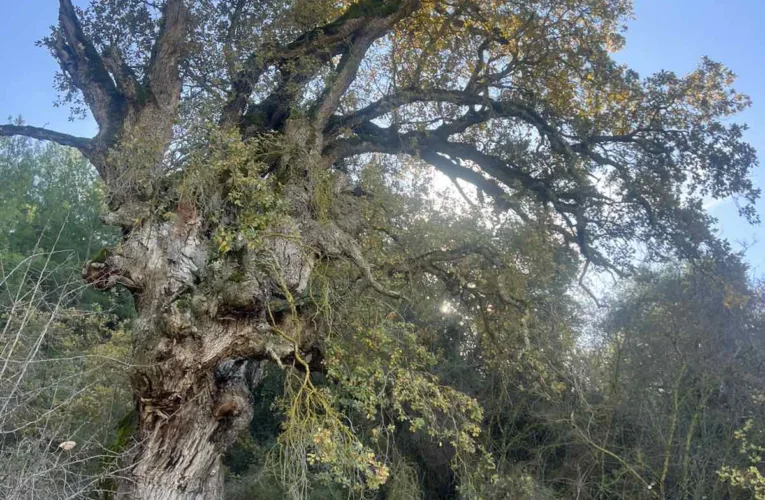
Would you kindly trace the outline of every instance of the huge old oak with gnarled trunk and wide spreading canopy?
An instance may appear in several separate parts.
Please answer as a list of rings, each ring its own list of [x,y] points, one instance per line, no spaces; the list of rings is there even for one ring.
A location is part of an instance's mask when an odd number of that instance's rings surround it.
[[[99,132],[16,124],[0,135],[81,151],[108,189],[104,219],[122,228],[121,243],[83,269],[97,288],[129,289],[138,315],[138,447],[119,494],[221,496],[220,457],[251,418],[263,363],[326,369],[326,329],[306,300],[320,266],[350,262],[395,302],[407,300],[399,272],[464,296],[475,292],[439,263],[499,260],[481,245],[442,245],[406,270],[375,265],[362,238],[402,240],[395,220],[365,216],[375,193],[354,185],[359,165],[430,165],[600,268],[723,251],[701,198],[741,196],[756,218],[756,156],[744,127],[726,121],[748,100],[710,60],[644,79],[615,63],[630,9],[99,0],[79,10],[60,0],[42,44],[59,63],[62,100]],[[513,303],[494,286],[492,300]]]

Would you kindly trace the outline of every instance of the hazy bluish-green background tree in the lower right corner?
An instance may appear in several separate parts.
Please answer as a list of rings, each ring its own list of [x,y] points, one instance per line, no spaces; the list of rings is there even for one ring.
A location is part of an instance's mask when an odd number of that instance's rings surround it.
[[[718,472],[762,418],[762,296],[733,257],[642,273],[558,410],[580,498],[749,498]],[[578,379],[578,380],[577,380]],[[570,411],[570,415],[566,412]],[[575,487],[575,488],[574,488]]]

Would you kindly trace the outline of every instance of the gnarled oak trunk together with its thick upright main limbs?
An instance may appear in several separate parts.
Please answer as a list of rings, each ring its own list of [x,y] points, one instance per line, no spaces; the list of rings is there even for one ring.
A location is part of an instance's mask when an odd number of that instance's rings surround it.
[[[384,291],[372,279],[354,239],[361,218],[343,176],[322,175],[322,182],[329,179],[323,187],[332,190],[325,195],[332,198],[334,212],[315,217],[316,181],[310,175],[312,168],[329,173],[332,159],[322,158],[323,134],[361,57],[416,2],[370,5],[368,12],[360,10],[319,29],[317,33],[328,36],[321,43],[308,36],[288,49],[290,61],[310,56],[327,63],[328,54],[344,53],[342,74],[322,94],[309,119],[291,117],[291,106],[299,101],[294,89],[305,86],[308,75],[285,71],[279,88],[254,113],[263,119],[253,126],[243,115],[252,92],[249,80],[259,70],[235,82],[220,128],[242,139],[276,134],[292,153],[279,158],[281,153],[268,152],[273,167],[269,175],[283,178],[279,227],[260,238],[257,250],[237,240],[235,248],[219,252],[211,241],[216,228],[198,213],[198,200],[167,195],[189,5],[165,0],[160,29],[139,78],[117,49],[99,51],[71,0],[60,0],[59,25],[46,44],[82,93],[99,133],[83,139],[20,126],[4,126],[0,132],[79,149],[107,186],[105,221],[123,230],[119,245],[102,250],[83,267],[83,277],[99,289],[128,288],[137,311],[131,379],[138,430],[132,465],[121,472],[119,498],[222,497],[221,456],[249,424],[251,389],[260,380],[261,363],[297,357],[313,341],[309,329],[294,317],[293,298],[305,291],[317,259],[345,256]],[[350,45],[353,33],[357,36]],[[327,53],[321,48],[325,42],[331,47]],[[315,72],[318,66],[307,68]],[[219,205],[226,196],[225,176],[210,186]],[[177,195],[177,188],[170,191]],[[232,223],[236,217],[227,213],[218,222]]]

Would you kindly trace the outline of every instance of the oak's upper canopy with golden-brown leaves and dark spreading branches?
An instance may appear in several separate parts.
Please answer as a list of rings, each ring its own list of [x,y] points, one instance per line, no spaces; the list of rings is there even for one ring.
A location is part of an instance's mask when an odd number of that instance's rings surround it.
[[[105,155],[141,109],[178,119],[168,169],[204,123],[247,139],[301,117],[319,163],[427,162],[522,219],[555,213],[551,228],[597,264],[628,264],[635,242],[652,257],[692,255],[714,246],[701,196],[757,196],[744,127],[726,122],[748,99],[708,59],[685,76],[616,64],[630,13],[622,0],[125,0],[78,19],[64,3],[43,43],[61,63],[64,100],[90,108],[101,131],[26,132],[80,147],[117,182]]]

